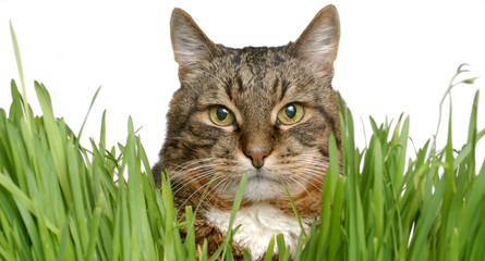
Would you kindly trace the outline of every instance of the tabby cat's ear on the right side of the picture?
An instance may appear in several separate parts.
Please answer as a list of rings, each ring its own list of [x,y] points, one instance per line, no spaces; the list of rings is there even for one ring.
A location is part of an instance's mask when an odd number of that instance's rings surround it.
[[[315,70],[328,71],[334,69],[339,39],[339,14],[334,5],[327,5],[315,15],[289,51],[293,57],[310,62]]]

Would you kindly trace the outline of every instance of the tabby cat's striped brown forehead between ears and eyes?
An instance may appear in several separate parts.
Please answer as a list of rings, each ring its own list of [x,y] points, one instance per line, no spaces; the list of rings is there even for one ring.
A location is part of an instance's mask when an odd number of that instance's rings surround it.
[[[271,110],[284,102],[312,103],[325,86],[318,74],[287,52],[288,46],[218,48],[222,54],[192,84],[201,107],[233,104]]]

